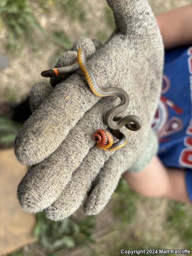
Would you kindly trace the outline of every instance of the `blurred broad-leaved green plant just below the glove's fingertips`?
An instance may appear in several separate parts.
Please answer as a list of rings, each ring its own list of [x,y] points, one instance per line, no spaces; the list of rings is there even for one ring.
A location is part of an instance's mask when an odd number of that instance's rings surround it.
[[[78,244],[84,244],[87,241],[93,242],[92,229],[94,226],[93,216],[88,216],[81,221],[67,218],[56,223],[48,220],[44,213],[40,212],[36,214],[34,236],[52,255],[56,250],[72,249]]]

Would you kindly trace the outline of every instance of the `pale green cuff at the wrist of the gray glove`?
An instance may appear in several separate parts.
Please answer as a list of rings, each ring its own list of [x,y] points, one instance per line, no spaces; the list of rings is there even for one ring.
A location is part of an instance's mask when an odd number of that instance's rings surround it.
[[[140,155],[139,159],[128,169],[128,172],[142,171],[156,155],[158,149],[158,140],[156,133],[150,128],[146,137],[146,148]]]

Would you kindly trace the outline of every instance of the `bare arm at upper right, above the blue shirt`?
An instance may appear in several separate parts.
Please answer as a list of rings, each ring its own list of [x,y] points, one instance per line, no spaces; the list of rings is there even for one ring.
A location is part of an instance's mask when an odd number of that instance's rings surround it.
[[[192,43],[192,4],[156,15],[165,49]]]

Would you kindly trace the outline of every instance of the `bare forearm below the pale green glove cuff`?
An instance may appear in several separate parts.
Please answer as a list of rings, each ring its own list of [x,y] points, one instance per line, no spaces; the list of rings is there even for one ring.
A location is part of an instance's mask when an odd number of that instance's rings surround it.
[[[134,191],[143,196],[191,203],[185,184],[185,170],[166,168],[157,156],[141,172],[125,172],[124,178]]]

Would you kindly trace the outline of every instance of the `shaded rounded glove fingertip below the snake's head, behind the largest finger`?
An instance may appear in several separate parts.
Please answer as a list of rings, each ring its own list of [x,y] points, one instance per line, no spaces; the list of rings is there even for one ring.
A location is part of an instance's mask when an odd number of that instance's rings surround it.
[[[48,95],[52,92],[53,88],[50,84],[46,84],[43,82],[34,84],[29,92],[29,104],[31,108],[31,112],[33,113],[41,103],[48,97]]]

